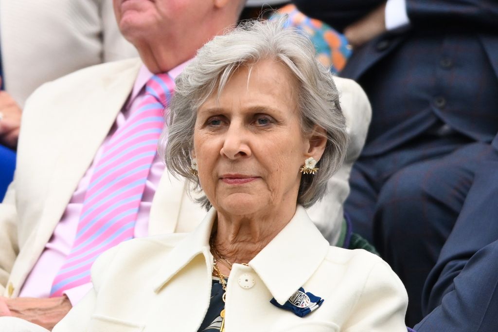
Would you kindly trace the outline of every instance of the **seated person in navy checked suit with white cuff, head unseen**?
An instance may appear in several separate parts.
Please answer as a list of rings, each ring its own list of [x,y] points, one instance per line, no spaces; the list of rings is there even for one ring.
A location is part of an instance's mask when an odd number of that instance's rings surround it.
[[[472,168],[498,132],[498,3],[294,2],[354,47],[341,75],[366,90],[373,118],[345,210],[405,283],[413,325]]]

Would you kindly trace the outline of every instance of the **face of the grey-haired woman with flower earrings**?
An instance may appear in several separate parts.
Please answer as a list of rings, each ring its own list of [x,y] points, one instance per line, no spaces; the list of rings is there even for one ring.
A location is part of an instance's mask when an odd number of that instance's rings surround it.
[[[312,156],[296,101],[295,78],[280,62],[265,60],[250,73],[242,66],[219,100],[214,94],[201,105],[193,157],[217,210],[247,215],[295,207],[299,168]]]

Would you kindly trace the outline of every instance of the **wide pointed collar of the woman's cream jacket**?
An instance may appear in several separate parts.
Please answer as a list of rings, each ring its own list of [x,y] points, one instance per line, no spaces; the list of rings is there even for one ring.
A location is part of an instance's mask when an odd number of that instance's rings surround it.
[[[168,255],[154,280],[154,291],[162,287],[197,255],[204,255],[213,270],[209,237],[216,219],[211,209],[197,229]],[[249,262],[275,300],[283,305],[315,273],[325,259],[329,243],[298,205],[289,223]],[[285,278],[282,278],[285,276]]]

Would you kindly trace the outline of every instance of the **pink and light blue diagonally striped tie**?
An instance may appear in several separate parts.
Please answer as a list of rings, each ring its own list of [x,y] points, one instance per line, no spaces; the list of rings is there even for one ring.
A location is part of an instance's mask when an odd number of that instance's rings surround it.
[[[73,248],[52,284],[51,297],[90,282],[90,268],[104,251],[133,238],[138,207],[174,88],[168,74],[154,75],[145,96],[112,136],[90,180]]]

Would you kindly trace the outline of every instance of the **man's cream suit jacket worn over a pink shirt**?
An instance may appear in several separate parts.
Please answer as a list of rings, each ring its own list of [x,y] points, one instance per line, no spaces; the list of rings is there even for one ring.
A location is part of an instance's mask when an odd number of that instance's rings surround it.
[[[122,109],[139,59],[82,69],[46,83],[28,99],[23,113],[17,166],[0,204],[0,294],[15,297],[38,260],[81,177]],[[348,161],[329,183],[324,200],[309,213],[324,234],[337,237],[342,203],[349,193],[352,161],[370,122],[370,104],[353,81],[338,79],[352,140]],[[149,234],[192,231],[206,214],[185,184],[165,172],[150,210]]]

